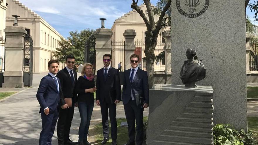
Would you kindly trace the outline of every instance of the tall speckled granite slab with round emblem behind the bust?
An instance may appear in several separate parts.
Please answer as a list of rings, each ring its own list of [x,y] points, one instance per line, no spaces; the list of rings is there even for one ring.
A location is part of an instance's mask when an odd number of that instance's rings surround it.
[[[172,84],[182,84],[185,52],[194,48],[207,72],[196,84],[214,89],[214,123],[247,131],[245,1],[199,3],[171,3]]]

